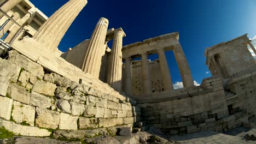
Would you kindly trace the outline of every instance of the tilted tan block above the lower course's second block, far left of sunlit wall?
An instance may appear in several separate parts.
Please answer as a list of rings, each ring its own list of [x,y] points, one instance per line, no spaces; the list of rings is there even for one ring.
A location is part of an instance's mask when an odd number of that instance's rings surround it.
[[[16,83],[10,83],[8,93],[11,99],[24,104],[30,104],[30,93],[26,91],[25,87],[18,86]]]

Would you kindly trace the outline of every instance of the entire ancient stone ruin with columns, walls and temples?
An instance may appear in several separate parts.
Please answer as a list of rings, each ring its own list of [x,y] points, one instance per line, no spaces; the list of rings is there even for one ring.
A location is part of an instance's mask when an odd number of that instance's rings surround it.
[[[247,34],[208,47],[212,77],[195,86],[178,32],[123,46],[125,29],[108,28],[102,17],[89,40],[59,51],[86,4],[69,0],[48,18],[28,0],[2,3],[0,128],[64,141],[125,143],[110,137],[121,135],[174,143],[154,135],[225,133],[255,122],[256,62],[248,47],[256,50]],[[173,89],[166,51],[174,53],[184,88]],[[159,59],[149,61],[153,54]],[[132,135],[138,131],[154,135]]]

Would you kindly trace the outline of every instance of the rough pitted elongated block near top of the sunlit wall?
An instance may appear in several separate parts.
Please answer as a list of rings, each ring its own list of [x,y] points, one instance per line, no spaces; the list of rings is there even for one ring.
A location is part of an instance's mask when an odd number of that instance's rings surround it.
[[[71,80],[55,73],[45,74],[44,81],[48,81],[48,82],[54,83],[57,86],[66,87],[66,88],[71,86]]]

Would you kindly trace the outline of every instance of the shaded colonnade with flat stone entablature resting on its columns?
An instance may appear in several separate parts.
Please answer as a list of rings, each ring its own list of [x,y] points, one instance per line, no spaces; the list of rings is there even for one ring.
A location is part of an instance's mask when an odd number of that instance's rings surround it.
[[[170,69],[168,68],[168,63],[165,56],[165,52],[170,50],[173,50],[174,52],[174,56],[178,63],[184,87],[194,87],[193,77],[187,62],[187,58],[185,57],[185,54],[182,50],[182,46],[181,44],[179,44],[179,34],[177,32],[160,35],[155,38],[146,39],[143,42],[137,42],[123,47],[123,59],[125,59],[126,63],[132,61],[133,58],[142,58],[142,77],[144,95],[152,95],[152,83],[149,77],[150,71],[148,68],[148,56],[154,53],[158,53],[159,56],[161,76],[165,90],[173,90]],[[129,65],[127,65],[126,70],[126,74],[130,74]],[[126,77],[131,76],[126,75]],[[130,81],[129,79],[126,80]],[[124,87],[130,87],[130,85],[132,85],[132,83],[125,82]],[[126,90],[126,93],[132,92]]]

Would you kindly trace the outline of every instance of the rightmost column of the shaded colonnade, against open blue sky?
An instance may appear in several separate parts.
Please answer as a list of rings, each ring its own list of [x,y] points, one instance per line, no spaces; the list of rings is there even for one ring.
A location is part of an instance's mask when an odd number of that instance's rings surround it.
[[[173,49],[174,56],[178,63],[179,73],[181,73],[182,82],[184,87],[194,87],[194,81],[191,74],[191,70],[188,65],[187,58],[182,50],[182,46],[180,44],[175,45]]]

